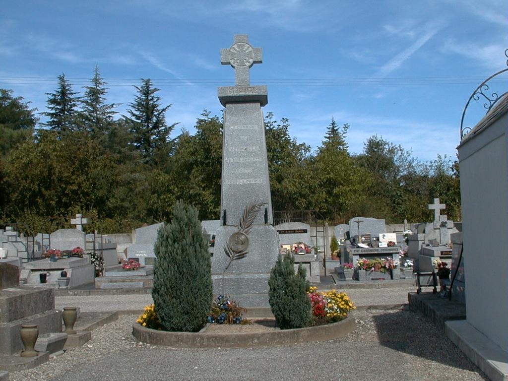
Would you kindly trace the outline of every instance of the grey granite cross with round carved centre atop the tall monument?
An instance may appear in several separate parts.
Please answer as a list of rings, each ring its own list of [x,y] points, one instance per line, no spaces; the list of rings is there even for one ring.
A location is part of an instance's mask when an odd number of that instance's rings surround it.
[[[253,48],[247,35],[235,35],[235,42],[229,49],[220,49],[220,63],[235,69],[236,86],[249,86],[249,69],[255,63],[263,62],[263,50]]]

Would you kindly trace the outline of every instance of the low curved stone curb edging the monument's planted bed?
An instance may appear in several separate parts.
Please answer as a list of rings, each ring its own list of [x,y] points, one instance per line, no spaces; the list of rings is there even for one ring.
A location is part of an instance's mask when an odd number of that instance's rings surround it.
[[[190,333],[167,332],[133,324],[132,334],[141,342],[184,348],[240,348],[254,346],[290,345],[339,339],[356,329],[355,319],[346,319],[324,326],[274,330],[252,333]]]

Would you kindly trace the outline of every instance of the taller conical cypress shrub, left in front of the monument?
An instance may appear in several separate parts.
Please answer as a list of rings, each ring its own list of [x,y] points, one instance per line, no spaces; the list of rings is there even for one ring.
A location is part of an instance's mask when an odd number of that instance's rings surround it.
[[[152,298],[168,331],[196,332],[212,303],[211,260],[195,207],[177,201],[155,242]]]

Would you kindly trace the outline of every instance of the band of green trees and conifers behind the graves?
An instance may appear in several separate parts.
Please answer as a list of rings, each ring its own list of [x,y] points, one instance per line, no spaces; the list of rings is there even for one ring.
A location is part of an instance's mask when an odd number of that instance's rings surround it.
[[[170,220],[179,199],[196,206],[201,219],[218,219],[222,118],[205,110],[192,133],[172,139],[170,105],[163,106],[149,79],[135,86],[129,117],[119,117],[98,67],[93,73],[82,98],[58,76],[45,128],[35,134],[36,110],[0,89],[0,224],[48,231],[69,227],[70,216],[82,213],[90,217],[86,231],[130,232]],[[460,220],[458,162],[446,156],[420,162],[378,135],[353,154],[347,134],[355,126],[334,119],[311,151],[291,128],[288,119],[266,115],[275,211],[315,210],[330,225],[357,215],[422,222],[432,219],[427,205],[439,198],[449,218]]]

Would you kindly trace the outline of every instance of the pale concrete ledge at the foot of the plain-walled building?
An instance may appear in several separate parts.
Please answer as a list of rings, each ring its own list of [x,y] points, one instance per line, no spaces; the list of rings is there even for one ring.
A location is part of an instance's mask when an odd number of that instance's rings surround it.
[[[492,381],[508,381],[508,353],[466,321],[444,324],[444,334]]]

